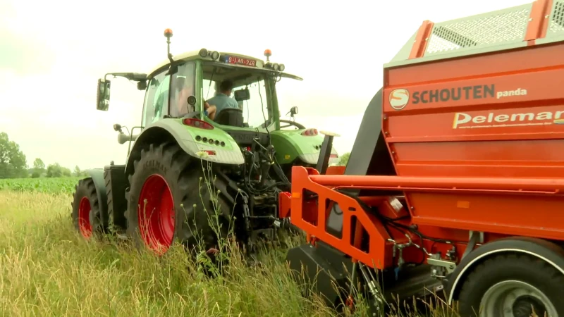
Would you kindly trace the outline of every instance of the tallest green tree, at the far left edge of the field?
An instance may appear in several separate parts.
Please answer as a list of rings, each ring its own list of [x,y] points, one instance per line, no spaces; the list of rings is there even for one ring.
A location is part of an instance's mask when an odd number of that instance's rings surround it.
[[[20,146],[10,141],[6,132],[0,132],[0,178],[26,178],[27,161]]]

